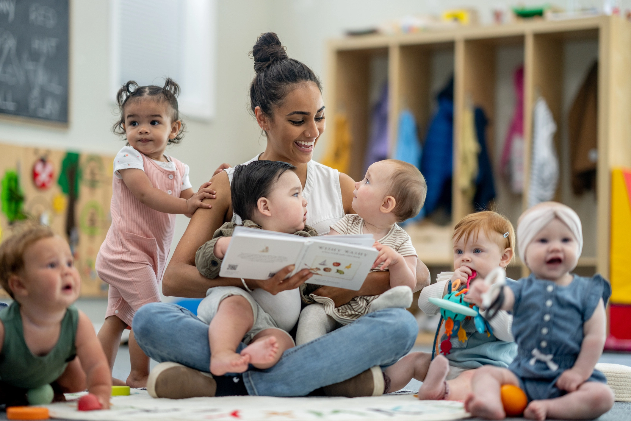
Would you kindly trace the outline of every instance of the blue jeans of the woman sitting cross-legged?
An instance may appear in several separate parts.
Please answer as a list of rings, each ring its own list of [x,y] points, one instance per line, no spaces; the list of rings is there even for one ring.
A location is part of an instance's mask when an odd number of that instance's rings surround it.
[[[144,353],[209,372],[208,324],[175,304],[146,304],[133,320]],[[259,396],[305,396],[315,389],[357,376],[370,367],[388,367],[410,352],[418,324],[404,309],[383,309],[290,348],[274,367],[243,374],[247,392]],[[244,347],[245,345],[241,345]]]

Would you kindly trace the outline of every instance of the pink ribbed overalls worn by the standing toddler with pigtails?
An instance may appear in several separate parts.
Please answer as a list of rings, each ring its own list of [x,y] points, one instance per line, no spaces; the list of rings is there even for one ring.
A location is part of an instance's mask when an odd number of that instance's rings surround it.
[[[153,187],[179,198],[184,164],[170,157],[177,171],[169,171],[142,153],[139,155]],[[95,266],[98,277],[110,285],[105,317],[118,316],[131,326],[140,307],[160,301],[158,282],[171,248],[175,215],[143,205],[115,176],[110,211],[112,225]]]

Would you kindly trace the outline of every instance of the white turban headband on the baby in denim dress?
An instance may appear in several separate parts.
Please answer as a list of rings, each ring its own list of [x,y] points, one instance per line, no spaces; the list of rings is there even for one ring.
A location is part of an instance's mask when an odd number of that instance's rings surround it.
[[[548,225],[551,220],[558,218],[565,223],[574,235],[574,239],[579,245],[576,258],[581,256],[583,249],[583,231],[581,227],[581,218],[569,206],[565,206],[558,202],[543,202],[533,206],[529,210],[519,216],[517,222],[517,250],[519,258],[526,263],[526,248],[533,241],[534,236],[540,232],[543,227]],[[574,262],[574,265],[577,262]]]

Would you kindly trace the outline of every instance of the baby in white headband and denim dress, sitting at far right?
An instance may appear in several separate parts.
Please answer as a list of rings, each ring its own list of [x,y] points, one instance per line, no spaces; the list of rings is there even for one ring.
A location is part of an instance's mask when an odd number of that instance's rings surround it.
[[[576,246],[565,241],[570,235]],[[559,246],[559,240],[568,247]],[[476,370],[473,394],[464,408],[474,417],[502,419],[506,413],[498,391],[502,384],[516,384],[529,401],[524,418],[598,418],[614,401],[606,377],[594,369],[603,352],[611,287],[598,274],[570,273],[582,251],[581,220],[568,206],[540,203],[519,218],[517,246],[533,273],[498,290],[504,293],[498,295],[499,308],[513,312],[517,357],[509,369],[485,365]],[[531,261],[525,261],[526,254]],[[555,255],[567,259],[570,255],[574,261],[560,259],[561,264],[556,264]],[[548,256],[551,266],[543,259]],[[464,300],[479,306],[491,288],[486,282],[472,283]]]

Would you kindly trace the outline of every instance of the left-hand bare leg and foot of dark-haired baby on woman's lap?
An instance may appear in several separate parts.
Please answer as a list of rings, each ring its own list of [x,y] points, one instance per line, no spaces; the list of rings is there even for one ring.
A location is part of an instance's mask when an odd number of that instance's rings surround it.
[[[247,299],[241,295],[230,295],[223,299],[215,317],[208,326],[210,345],[210,372],[215,376],[242,373],[247,370],[249,355],[239,355],[237,347],[252,329],[254,313]]]

